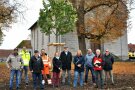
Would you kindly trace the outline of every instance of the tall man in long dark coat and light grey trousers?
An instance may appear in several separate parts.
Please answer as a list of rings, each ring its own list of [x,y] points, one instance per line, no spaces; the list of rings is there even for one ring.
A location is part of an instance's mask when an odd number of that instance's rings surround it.
[[[68,47],[64,47],[64,51],[60,54],[60,60],[62,63],[62,83],[65,84],[65,76],[67,72],[68,84],[70,85],[72,53],[68,51]]]

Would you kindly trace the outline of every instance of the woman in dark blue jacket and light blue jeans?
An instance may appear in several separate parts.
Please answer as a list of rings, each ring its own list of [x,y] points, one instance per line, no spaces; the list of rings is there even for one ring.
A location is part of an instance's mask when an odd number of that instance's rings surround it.
[[[77,55],[74,57],[74,82],[73,82],[73,87],[77,86],[78,82],[78,75],[80,77],[80,86],[83,86],[83,75],[84,75],[84,56],[82,55],[82,51],[78,50]]]

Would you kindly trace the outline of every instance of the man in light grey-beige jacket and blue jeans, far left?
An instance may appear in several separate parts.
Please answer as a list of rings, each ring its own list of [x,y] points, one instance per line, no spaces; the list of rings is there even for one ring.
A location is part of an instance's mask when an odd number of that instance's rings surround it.
[[[13,53],[10,54],[6,61],[7,67],[10,69],[10,83],[9,89],[13,89],[14,75],[16,76],[16,90],[19,89],[20,70],[23,68],[23,60],[18,55],[18,49],[15,48]]]

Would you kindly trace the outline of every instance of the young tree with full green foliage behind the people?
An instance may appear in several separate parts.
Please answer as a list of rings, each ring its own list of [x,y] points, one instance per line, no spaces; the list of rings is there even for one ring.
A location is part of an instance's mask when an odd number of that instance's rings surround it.
[[[72,4],[65,0],[43,1],[43,9],[40,10],[38,25],[41,32],[46,35],[55,34],[56,43],[58,36],[71,32],[75,28],[76,11]]]

